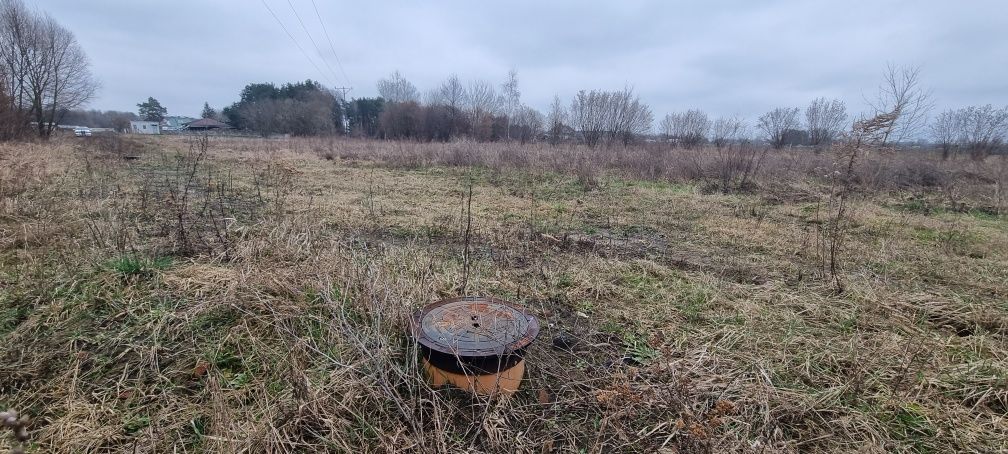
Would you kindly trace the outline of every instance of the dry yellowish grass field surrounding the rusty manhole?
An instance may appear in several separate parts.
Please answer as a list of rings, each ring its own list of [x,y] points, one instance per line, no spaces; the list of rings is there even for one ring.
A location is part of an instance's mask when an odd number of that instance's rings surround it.
[[[733,152],[0,144],[0,407],[39,453],[1008,451],[1008,159],[867,153],[834,275],[834,152]],[[542,322],[511,399],[418,370],[463,293]]]

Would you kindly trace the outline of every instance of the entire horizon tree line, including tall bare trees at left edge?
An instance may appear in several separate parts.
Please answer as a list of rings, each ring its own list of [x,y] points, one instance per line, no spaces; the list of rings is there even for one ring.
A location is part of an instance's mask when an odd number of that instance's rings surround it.
[[[23,0],[0,0],[0,139],[35,135],[45,139],[59,124],[126,130],[129,121],[160,121],[167,109],[153,97],[138,111],[82,109],[99,87],[73,32],[51,16],[29,9]],[[378,96],[345,100],[319,82],[248,84],[239,99],[220,111],[205,103],[205,118],[269,136],[350,135],[390,140],[577,142],[589,146],[627,146],[656,141],[669,147],[765,141],[774,148],[826,147],[844,137],[854,123],[842,100],[816,98],[804,108],[780,106],[755,121],[738,116],[712,118],[687,109],[656,119],[632,88],[581,90],[564,102],[554,96],[546,113],[521,100],[518,74],[503,83],[464,82],[457,75],[420,92],[399,72],[377,82]],[[880,87],[898,106],[899,121],[884,142],[926,137],[944,157],[957,153],[986,156],[1003,152],[1008,136],[1008,106],[967,106],[946,110],[927,123],[932,103],[920,87],[916,68],[889,67]],[[883,102],[884,101],[884,102]]]

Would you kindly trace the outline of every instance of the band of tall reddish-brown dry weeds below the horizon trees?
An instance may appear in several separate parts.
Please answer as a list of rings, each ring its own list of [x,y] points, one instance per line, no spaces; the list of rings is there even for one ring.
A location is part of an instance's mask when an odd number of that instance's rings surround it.
[[[325,159],[381,162],[397,168],[481,166],[577,176],[592,186],[601,177],[700,184],[708,191],[788,192],[809,185],[828,187],[841,172],[834,149],[772,149],[756,144],[670,148],[662,143],[627,147],[505,142],[409,142],[345,138],[228,139],[224,148],[239,152],[312,152]],[[946,203],[995,213],[1006,210],[1008,155],[942,160],[931,149],[869,149],[853,172],[866,193],[917,193]],[[800,197],[794,194],[795,197]]]

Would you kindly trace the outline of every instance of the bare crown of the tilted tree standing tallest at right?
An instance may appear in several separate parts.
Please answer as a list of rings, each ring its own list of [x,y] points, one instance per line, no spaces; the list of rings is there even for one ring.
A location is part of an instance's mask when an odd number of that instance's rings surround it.
[[[916,136],[924,126],[932,107],[931,93],[920,86],[920,68],[886,67],[878,95],[870,101],[873,115],[895,115],[894,121],[881,130],[881,145],[901,142]]]

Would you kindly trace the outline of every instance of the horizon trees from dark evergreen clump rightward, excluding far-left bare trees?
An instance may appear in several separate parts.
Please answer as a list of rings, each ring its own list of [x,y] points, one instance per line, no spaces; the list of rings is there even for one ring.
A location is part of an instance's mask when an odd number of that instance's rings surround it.
[[[1008,107],[991,105],[952,109],[926,122],[931,99],[920,86],[916,68],[890,67],[879,99],[898,106],[900,121],[884,131],[884,142],[902,143],[926,136],[949,157],[957,152],[983,156],[1002,151],[1008,135]],[[249,84],[240,100],[219,119],[250,132],[291,135],[340,134],[393,140],[515,140],[579,142],[589,146],[629,145],[643,140],[670,147],[763,140],[774,148],[825,147],[850,129],[855,119],[839,99],[816,98],[804,108],[776,107],[750,123],[738,116],[712,118],[701,109],[665,115],[657,122],[650,107],[631,88],[582,90],[569,103],[554,96],[543,114],[521,102],[518,75],[505,81],[464,83],[456,75],[421,93],[400,73],[377,83],[378,96],[344,101],[313,81],[275,86]],[[876,108],[879,106],[879,108]],[[209,106],[205,107],[205,113]],[[214,112],[213,109],[210,109]]]

